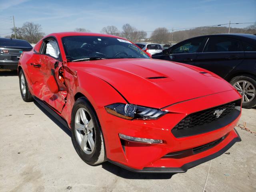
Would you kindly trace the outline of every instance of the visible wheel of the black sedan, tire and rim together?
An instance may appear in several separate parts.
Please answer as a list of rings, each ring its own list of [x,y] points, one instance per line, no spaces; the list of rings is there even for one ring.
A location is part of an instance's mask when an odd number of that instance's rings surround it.
[[[244,84],[243,84],[244,83]],[[251,76],[236,76],[230,84],[242,95],[242,107],[256,106],[256,79]],[[253,96],[254,95],[254,96]]]

